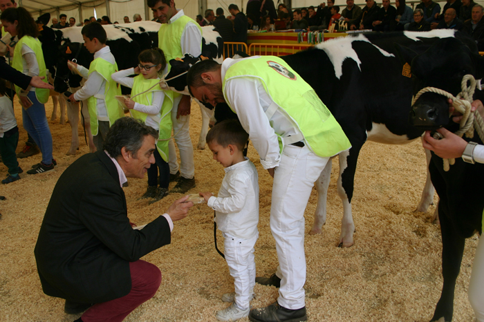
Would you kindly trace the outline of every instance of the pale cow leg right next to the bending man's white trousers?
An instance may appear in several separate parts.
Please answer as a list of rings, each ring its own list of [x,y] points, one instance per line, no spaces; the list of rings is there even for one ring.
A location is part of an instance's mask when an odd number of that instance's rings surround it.
[[[333,167],[333,158],[328,160],[326,167],[319,178],[315,182],[315,187],[317,191],[317,206],[315,211],[315,221],[313,223],[313,228],[309,231],[310,235],[321,234],[322,227],[326,224],[326,202],[328,200],[328,187],[331,181],[331,169]]]

